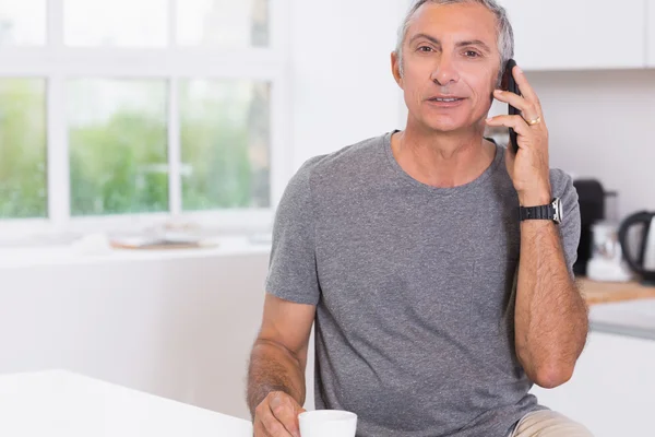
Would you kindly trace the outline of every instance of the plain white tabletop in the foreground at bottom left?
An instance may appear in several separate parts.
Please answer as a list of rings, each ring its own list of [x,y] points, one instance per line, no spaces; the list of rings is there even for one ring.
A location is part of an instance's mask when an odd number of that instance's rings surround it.
[[[0,376],[0,436],[251,437],[249,422],[63,370]]]

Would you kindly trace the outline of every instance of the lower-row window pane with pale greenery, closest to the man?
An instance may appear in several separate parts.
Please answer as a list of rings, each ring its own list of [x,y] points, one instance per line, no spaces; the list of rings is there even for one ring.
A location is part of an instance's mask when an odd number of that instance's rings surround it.
[[[180,84],[184,210],[270,205],[269,83]]]

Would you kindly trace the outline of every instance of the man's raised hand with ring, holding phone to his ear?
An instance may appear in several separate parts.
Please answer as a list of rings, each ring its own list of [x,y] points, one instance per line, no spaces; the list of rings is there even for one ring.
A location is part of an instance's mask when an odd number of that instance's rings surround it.
[[[550,166],[548,162],[548,129],[541,104],[519,67],[512,71],[523,96],[496,90],[493,97],[521,110],[516,116],[497,116],[487,119],[489,126],[504,126],[516,132],[519,152],[511,146],[505,153],[508,173],[523,206],[537,206],[551,201]]]

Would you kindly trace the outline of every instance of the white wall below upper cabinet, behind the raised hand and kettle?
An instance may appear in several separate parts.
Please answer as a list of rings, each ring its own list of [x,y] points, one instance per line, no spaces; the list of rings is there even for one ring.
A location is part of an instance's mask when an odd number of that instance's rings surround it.
[[[655,69],[531,72],[551,166],[619,191],[619,216],[655,211]]]

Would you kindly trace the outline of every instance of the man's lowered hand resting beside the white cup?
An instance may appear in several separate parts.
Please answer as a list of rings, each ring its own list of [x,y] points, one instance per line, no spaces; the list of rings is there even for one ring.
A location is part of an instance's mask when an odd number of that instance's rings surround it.
[[[272,391],[254,410],[254,437],[300,437],[298,414],[305,409],[283,391]]]

